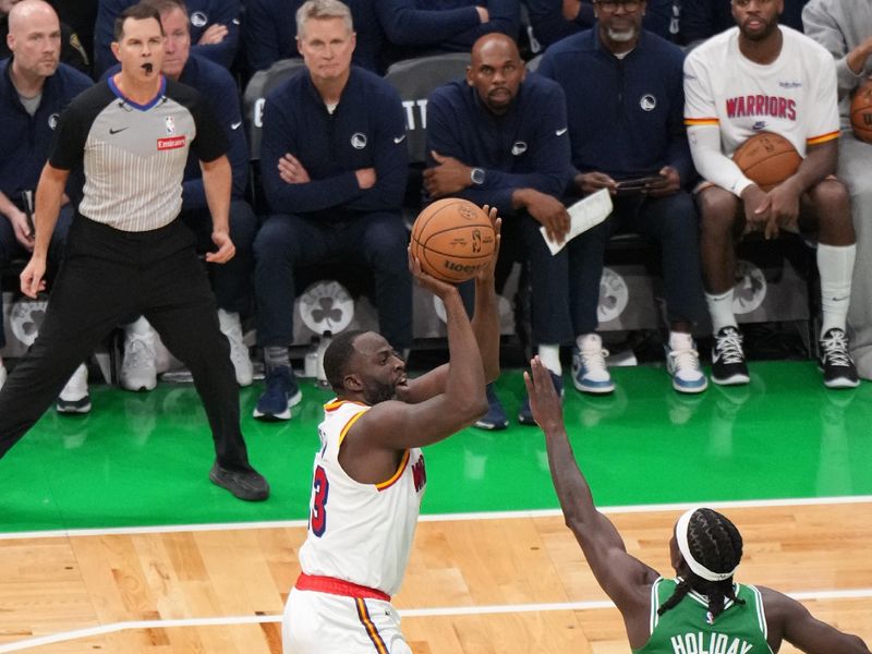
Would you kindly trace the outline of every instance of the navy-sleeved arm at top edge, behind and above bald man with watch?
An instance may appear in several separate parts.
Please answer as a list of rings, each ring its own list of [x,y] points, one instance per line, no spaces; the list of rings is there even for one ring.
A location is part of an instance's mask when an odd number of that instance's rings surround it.
[[[385,34],[398,46],[429,46],[481,24],[474,7],[419,10],[414,0],[377,0],[376,11]]]

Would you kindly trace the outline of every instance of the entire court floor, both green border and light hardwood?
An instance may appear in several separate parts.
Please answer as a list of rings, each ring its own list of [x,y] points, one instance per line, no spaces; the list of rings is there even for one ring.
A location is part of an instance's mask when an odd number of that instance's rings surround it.
[[[798,593],[872,643],[872,384],[826,391],[811,362],[753,363],[750,386],[697,397],[675,393],[662,368],[614,376],[607,398],[569,387],[565,413],[597,502],[641,509],[613,514],[628,548],[668,572],[680,509],[650,505],[775,504],[726,511],[747,543],[739,581]],[[243,415],[258,392],[244,390]],[[519,372],[500,378],[499,393],[513,415]],[[78,629],[90,631],[31,651],[280,652],[277,620],[298,572],[328,399],[310,386],[304,396],[290,423],[243,421],[272,485],[259,505],[206,480],[211,444],[190,387],[95,387],[88,416],[48,414],[0,461],[0,654]],[[629,651],[554,514],[536,428],[467,429],[425,456],[425,513],[506,513],[424,517],[396,598],[415,654]],[[790,498],[836,504],[770,501]],[[542,509],[550,512],[530,513]],[[288,520],[301,522],[277,523]],[[208,530],[223,523],[240,524]]]

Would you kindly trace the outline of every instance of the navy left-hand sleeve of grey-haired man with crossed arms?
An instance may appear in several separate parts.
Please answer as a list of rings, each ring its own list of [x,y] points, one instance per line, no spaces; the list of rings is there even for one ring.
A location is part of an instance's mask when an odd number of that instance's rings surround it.
[[[353,170],[304,184],[288,184],[279,177],[279,159],[287,153],[300,155],[295,138],[298,123],[286,113],[282,105],[287,102],[281,100],[280,97],[269,96],[264,107],[261,177],[270,209],[278,214],[318,211],[344,205],[358,197],[362,191]]]

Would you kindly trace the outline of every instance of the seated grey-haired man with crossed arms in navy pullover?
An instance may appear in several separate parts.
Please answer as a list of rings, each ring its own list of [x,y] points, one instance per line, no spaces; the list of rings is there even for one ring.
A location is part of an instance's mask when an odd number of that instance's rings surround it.
[[[302,396],[291,370],[294,270],[353,262],[373,270],[379,331],[398,352],[412,344],[409,234],[400,216],[409,155],[397,92],[351,65],[354,32],[339,0],[296,12],[307,69],[264,107],[261,168],[272,215],[254,243],[257,341],[266,390],[254,416],[288,420]]]

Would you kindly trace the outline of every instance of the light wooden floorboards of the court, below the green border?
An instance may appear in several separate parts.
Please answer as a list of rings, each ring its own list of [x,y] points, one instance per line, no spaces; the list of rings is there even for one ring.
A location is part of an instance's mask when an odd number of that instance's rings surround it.
[[[818,597],[804,601],[815,615],[872,642],[872,501],[723,510],[746,540],[739,581]],[[631,554],[668,571],[677,514],[610,517]],[[279,653],[304,537],[301,525],[4,540],[0,652],[96,628],[29,651]],[[422,522],[395,604],[415,654],[626,654],[605,601],[561,518],[525,516]]]

